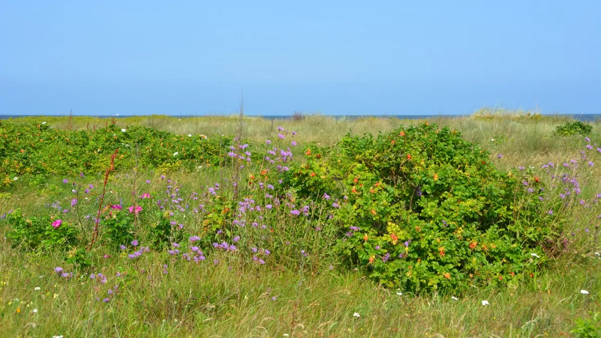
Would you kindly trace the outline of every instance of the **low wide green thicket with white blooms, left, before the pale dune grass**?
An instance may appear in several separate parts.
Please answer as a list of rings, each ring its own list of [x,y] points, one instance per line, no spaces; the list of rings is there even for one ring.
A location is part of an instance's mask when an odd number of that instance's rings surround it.
[[[215,166],[233,140],[141,126],[123,130],[112,124],[93,131],[0,121],[0,188],[16,181],[37,186],[50,175],[103,174],[115,149],[119,149],[115,169],[133,167],[136,160],[146,168]]]

